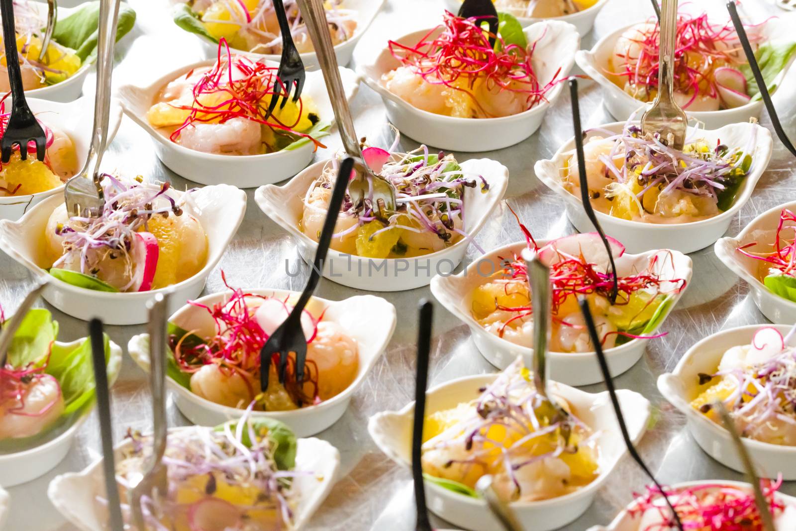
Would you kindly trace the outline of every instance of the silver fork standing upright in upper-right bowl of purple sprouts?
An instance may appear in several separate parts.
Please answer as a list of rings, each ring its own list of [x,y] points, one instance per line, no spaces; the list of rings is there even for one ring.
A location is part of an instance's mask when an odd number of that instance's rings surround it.
[[[683,149],[689,119],[674,101],[674,43],[677,39],[677,0],[663,0],[661,43],[658,57],[657,96],[642,116],[644,135],[659,133],[661,141],[676,150]]]

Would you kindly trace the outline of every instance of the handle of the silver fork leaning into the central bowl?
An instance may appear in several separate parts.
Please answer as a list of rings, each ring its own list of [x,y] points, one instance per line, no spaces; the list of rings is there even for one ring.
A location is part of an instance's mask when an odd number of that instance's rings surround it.
[[[345,99],[345,90],[338,69],[338,58],[334,55],[334,45],[332,45],[332,37],[326,24],[326,10],[323,9],[322,0],[297,0],[297,2],[315,47],[318,64],[321,65],[323,71],[323,79],[326,81],[326,90],[329,91],[334,118],[338,122],[345,152],[349,157],[361,158],[362,150],[359,146],[359,139],[357,139],[357,131],[353,128],[351,109],[348,100]]]

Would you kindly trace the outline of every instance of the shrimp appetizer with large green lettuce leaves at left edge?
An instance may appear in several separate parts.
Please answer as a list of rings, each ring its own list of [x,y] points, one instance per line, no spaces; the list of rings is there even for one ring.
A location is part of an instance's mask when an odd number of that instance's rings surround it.
[[[92,404],[88,339],[64,344],[57,335],[58,323],[41,308],[29,310],[14,334],[0,367],[0,454],[46,442]],[[109,361],[107,336],[105,347]]]

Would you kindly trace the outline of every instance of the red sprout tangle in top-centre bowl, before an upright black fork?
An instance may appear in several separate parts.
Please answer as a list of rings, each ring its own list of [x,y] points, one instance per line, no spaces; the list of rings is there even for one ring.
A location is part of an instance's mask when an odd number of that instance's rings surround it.
[[[435,33],[439,35],[432,37]],[[499,51],[490,45],[490,37],[497,37],[495,48]],[[548,84],[540,85],[531,62],[536,44],[534,42],[529,49],[506,45],[499,35],[484,31],[476,18],[457,17],[446,10],[443,24],[431,29],[416,45],[389,41],[389,49],[392,57],[427,83],[465,92],[485,115],[490,116],[468,90],[479,78],[486,80],[490,90],[497,87],[525,94],[525,110],[546,101],[545,94],[560,81],[556,80],[559,69]],[[458,80],[462,83],[457,84]]]

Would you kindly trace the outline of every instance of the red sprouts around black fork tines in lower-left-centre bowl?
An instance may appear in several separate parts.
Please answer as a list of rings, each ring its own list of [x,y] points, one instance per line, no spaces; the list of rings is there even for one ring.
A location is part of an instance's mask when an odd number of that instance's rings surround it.
[[[169,346],[174,352],[174,361],[177,362],[182,372],[196,373],[204,365],[216,364],[220,371],[227,376],[231,376],[233,373],[244,376],[244,381],[249,385],[249,396],[255,400],[258,392],[249,381],[259,381],[259,351],[268,341],[269,336],[254,317],[259,305],[252,305],[252,301],[274,298],[231,287],[227,283],[224,271],[221,271],[221,279],[224,286],[232,290],[229,299],[215,303],[213,306],[188,301],[191,306],[204,308],[213,317],[216,322],[216,335],[205,338],[205,342],[199,345],[187,345],[185,341],[187,334],[183,337],[172,334],[169,338]],[[292,309],[287,305],[287,298],[280,302],[285,305],[286,310]],[[307,340],[307,343],[310,343],[318,334],[318,322],[322,320],[323,315],[317,319],[312,317],[309,312],[306,312],[306,315],[310,316],[313,325],[313,332]],[[191,333],[189,332],[189,334]],[[275,359],[271,365],[278,367],[279,353],[275,353],[274,356]],[[296,381],[295,369],[295,357],[288,357],[284,384],[288,395],[297,404],[299,402],[302,404],[317,403],[319,401],[317,365],[314,361],[306,361],[304,379],[300,382]],[[304,390],[304,385],[307,384],[314,388],[310,395],[307,395]],[[263,389],[263,392],[265,391],[266,389]]]

